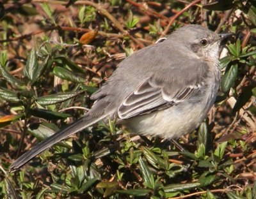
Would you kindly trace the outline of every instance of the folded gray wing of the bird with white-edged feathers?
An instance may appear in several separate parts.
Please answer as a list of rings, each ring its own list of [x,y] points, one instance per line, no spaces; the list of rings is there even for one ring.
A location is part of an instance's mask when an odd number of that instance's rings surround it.
[[[184,77],[183,77],[184,78]],[[159,81],[154,77],[148,78],[134,92],[129,94],[118,107],[118,117],[129,119],[138,115],[149,114],[156,110],[172,107],[199,92],[204,86],[204,78],[191,78],[183,84]]]

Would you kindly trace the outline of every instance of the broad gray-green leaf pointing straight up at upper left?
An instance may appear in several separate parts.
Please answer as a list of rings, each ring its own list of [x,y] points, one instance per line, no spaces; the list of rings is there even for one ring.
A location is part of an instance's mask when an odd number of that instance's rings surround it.
[[[31,82],[35,82],[37,70],[38,70],[37,55],[36,55],[35,48],[32,48],[32,50],[29,54],[26,66],[24,67],[23,73],[26,77],[29,78],[29,80],[31,80]]]

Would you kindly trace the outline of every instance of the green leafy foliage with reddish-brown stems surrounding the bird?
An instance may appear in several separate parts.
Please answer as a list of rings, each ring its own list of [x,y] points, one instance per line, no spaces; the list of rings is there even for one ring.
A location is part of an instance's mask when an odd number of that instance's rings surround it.
[[[196,3],[0,3],[0,198],[256,198],[256,4]],[[221,53],[216,108],[200,128],[172,144],[102,122],[8,173],[22,152],[92,107],[90,94],[125,54],[205,22],[236,36]]]

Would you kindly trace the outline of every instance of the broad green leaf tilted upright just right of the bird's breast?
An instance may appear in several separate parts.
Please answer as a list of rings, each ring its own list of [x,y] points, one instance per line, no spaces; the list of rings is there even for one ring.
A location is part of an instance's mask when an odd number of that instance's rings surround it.
[[[232,65],[225,73],[221,81],[221,89],[223,92],[228,92],[234,84],[238,73],[237,64]]]

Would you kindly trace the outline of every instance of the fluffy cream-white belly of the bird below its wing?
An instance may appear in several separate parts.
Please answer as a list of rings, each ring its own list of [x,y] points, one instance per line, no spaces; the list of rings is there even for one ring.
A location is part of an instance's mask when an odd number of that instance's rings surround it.
[[[209,101],[179,103],[164,110],[129,119],[125,125],[132,133],[175,138],[191,133],[205,119],[211,106]]]

